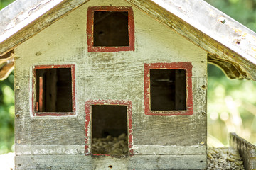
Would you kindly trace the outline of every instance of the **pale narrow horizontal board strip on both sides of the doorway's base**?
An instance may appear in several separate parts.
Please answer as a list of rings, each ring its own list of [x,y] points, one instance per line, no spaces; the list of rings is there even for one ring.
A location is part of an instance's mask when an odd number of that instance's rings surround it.
[[[134,145],[134,155],[190,155],[206,154],[206,146],[160,146],[160,145]],[[85,153],[85,145],[16,145],[16,155],[81,155]]]

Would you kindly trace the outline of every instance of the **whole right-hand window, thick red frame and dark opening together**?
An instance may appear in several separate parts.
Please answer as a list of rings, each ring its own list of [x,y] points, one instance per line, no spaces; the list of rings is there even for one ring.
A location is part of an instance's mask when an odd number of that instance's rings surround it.
[[[191,62],[144,64],[146,115],[192,115]]]

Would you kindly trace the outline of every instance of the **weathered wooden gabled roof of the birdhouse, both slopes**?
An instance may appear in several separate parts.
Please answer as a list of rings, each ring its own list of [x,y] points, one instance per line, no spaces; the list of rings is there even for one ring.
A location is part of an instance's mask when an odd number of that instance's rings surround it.
[[[88,0],[16,0],[0,11],[0,60]],[[256,81],[256,33],[203,0],[125,0],[208,52],[230,79]],[[1,66],[0,66],[1,67]],[[1,79],[1,74],[0,74]]]

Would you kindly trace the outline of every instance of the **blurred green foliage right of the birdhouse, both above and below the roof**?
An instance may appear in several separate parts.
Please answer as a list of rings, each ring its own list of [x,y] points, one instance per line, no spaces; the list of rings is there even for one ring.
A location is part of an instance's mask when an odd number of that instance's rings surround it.
[[[256,31],[256,0],[206,1]],[[208,64],[208,138],[228,145],[228,132],[236,132],[256,145],[255,96],[255,81],[230,80]]]

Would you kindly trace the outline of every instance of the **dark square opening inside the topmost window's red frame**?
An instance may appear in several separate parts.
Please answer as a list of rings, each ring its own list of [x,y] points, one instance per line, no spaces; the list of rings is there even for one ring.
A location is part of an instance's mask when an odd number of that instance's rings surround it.
[[[129,46],[128,12],[95,11],[93,46]]]

